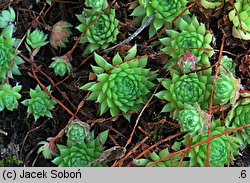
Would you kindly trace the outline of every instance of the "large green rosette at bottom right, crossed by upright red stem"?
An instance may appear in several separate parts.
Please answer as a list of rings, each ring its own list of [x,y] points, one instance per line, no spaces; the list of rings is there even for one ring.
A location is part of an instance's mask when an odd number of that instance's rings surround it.
[[[225,127],[221,126],[220,121],[212,122],[211,137],[225,131]],[[205,141],[208,138],[208,132],[203,135],[199,134],[193,137],[190,145]],[[186,135],[184,144],[189,141],[190,136]],[[212,167],[223,167],[228,165],[230,160],[234,159],[234,155],[238,154],[239,141],[236,137],[230,135],[222,135],[210,141],[209,164]],[[190,149],[188,156],[190,157],[190,166],[206,166],[207,143]]]

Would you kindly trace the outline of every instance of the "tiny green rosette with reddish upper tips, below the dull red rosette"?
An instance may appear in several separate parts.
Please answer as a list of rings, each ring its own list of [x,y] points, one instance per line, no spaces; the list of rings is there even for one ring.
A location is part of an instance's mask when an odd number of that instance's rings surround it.
[[[56,75],[65,76],[65,74],[70,74],[72,65],[70,64],[68,57],[53,57],[52,60],[54,61],[50,64],[49,68],[53,68]]]

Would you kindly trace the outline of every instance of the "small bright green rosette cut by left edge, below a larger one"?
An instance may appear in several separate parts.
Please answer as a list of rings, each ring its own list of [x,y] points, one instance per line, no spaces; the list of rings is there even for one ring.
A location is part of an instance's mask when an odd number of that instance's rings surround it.
[[[17,100],[21,98],[18,92],[21,89],[21,85],[14,87],[7,83],[0,85],[0,111],[3,111],[5,107],[10,111],[18,107]]]

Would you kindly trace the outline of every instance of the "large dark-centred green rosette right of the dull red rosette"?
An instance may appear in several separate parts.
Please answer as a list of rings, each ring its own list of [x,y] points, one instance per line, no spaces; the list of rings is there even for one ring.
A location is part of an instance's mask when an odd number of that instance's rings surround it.
[[[95,11],[88,9],[85,9],[84,11],[87,15],[87,18],[85,18],[83,15],[76,16],[82,23],[77,26],[77,29],[80,32],[86,31],[86,35],[80,41],[80,43],[89,43],[83,53],[86,55],[92,53],[98,48],[106,49],[110,43],[116,41],[119,31],[118,20],[115,18],[114,9],[106,10],[99,18],[98,13]],[[94,25],[90,27],[91,23],[95,20],[96,22]]]

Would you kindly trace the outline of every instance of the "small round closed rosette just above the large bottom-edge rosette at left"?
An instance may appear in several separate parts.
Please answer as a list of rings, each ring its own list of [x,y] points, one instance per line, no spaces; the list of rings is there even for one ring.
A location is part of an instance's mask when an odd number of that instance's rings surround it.
[[[81,143],[89,135],[89,129],[90,126],[87,123],[74,120],[67,128],[67,137],[75,143]]]

